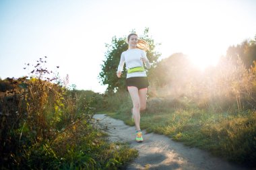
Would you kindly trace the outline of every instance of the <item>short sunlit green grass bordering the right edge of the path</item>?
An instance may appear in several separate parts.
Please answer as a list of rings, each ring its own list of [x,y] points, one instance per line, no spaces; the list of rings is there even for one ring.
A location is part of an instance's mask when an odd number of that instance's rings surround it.
[[[131,101],[121,104],[108,116],[131,122]],[[156,132],[210,151],[234,163],[255,166],[256,112],[220,112],[188,104],[186,99],[149,99],[148,109],[141,114],[141,129]]]

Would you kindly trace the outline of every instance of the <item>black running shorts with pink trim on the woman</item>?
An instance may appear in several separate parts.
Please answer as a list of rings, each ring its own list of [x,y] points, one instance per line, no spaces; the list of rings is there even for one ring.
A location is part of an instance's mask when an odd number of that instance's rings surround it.
[[[137,87],[138,89],[148,88],[150,83],[148,82],[148,77],[130,77],[126,79],[126,86]],[[128,89],[127,89],[128,91]]]

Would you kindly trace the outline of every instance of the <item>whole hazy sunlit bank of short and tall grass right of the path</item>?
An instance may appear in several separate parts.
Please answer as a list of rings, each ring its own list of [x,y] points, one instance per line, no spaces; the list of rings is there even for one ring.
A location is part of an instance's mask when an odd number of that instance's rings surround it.
[[[175,62],[169,64],[175,65]],[[169,76],[177,75],[166,77],[170,83],[162,87],[151,77],[147,110],[141,114],[141,128],[166,134],[234,163],[255,167],[255,64],[248,70],[241,60],[234,64],[222,58],[218,66],[205,72],[193,67],[186,70],[181,66],[183,71],[172,67]],[[108,96],[106,101],[113,108],[108,113],[110,116],[133,125],[127,92]]]

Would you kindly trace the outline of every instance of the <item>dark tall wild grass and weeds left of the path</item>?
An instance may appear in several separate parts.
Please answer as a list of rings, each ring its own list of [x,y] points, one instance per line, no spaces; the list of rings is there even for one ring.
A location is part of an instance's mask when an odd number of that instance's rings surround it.
[[[108,143],[92,121],[102,95],[69,90],[42,67],[44,61],[34,65],[30,79],[0,82],[1,169],[125,167],[137,151]]]

